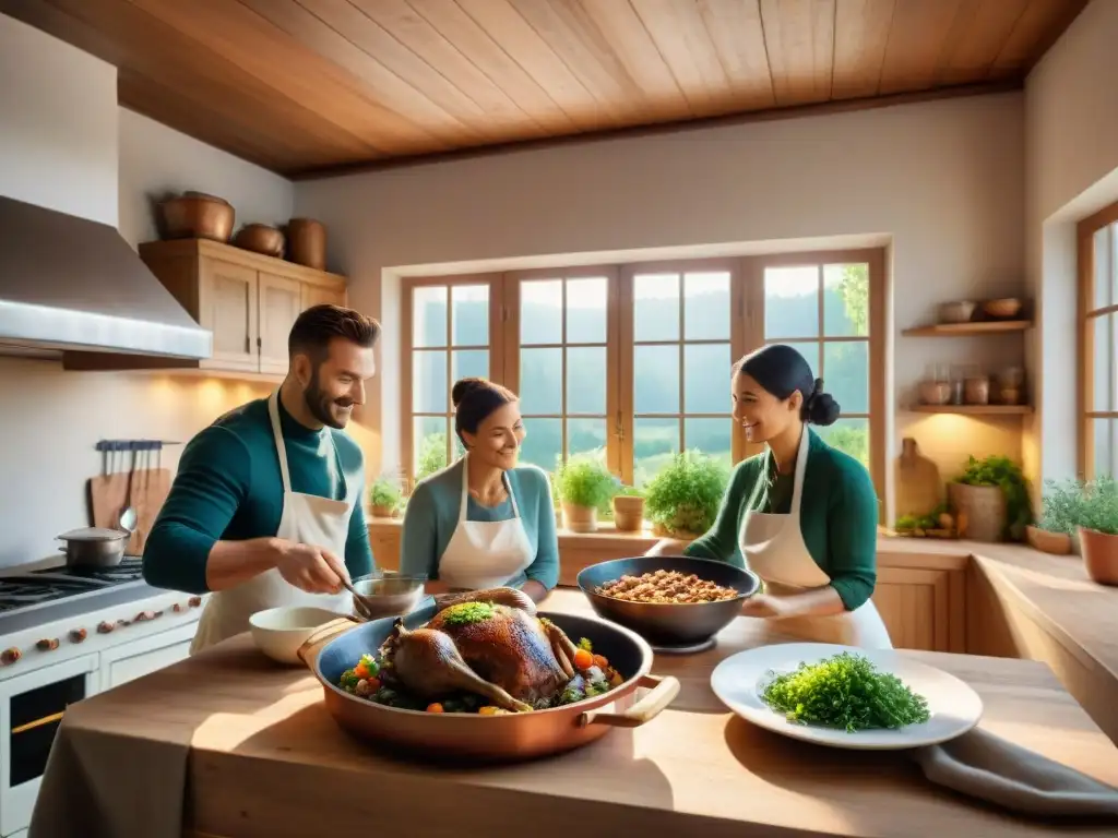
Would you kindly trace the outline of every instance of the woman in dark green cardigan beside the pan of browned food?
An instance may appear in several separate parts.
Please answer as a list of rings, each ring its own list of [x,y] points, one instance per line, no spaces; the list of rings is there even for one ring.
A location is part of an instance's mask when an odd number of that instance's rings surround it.
[[[765,451],[740,463],[714,525],[685,555],[748,566],[765,583],[742,612],[817,642],[892,648],[870,597],[877,583],[878,497],[865,466],[809,426],[833,425],[839,403],[792,346],[773,344],[733,365],[733,419]],[[652,553],[670,553],[661,542]]]

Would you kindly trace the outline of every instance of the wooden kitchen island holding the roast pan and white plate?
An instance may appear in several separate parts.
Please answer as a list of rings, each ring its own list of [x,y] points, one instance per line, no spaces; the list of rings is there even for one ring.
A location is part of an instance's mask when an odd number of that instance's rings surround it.
[[[580,593],[561,590],[542,608],[589,611]],[[312,676],[272,664],[247,636],[75,705],[63,730],[67,747],[95,741],[101,759],[120,761],[101,765],[110,779],[98,780],[98,765],[76,754],[97,785],[100,807],[113,808],[111,796],[136,788],[121,782],[120,766],[173,775],[180,759],[183,834],[191,838],[370,831],[458,838],[506,834],[511,825],[532,838],[622,830],[703,838],[1072,831],[934,785],[906,755],[817,747],[732,716],[712,694],[710,673],[758,640],[757,621],[738,618],[709,651],[657,656],[653,673],[682,683],[657,718],[511,766],[433,768],[382,756],[335,726]],[[906,654],[969,683],[985,703],[984,729],[1118,784],[1118,749],[1043,664]],[[94,792],[72,793],[82,800]],[[1074,830],[1114,834],[1112,826]]]

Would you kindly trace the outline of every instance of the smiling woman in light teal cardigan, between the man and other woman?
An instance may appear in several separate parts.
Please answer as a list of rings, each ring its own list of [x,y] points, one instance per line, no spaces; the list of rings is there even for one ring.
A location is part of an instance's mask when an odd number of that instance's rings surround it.
[[[509,587],[539,602],[559,582],[559,540],[547,474],[517,464],[519,400],[477,378],[455,382],[451,399],[466,454],[416,484],[400,572],[426,574],[428,593]]]

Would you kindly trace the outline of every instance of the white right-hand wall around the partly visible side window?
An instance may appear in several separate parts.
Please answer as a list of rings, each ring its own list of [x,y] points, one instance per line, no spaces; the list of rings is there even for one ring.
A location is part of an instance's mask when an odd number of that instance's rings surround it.
[[[1076,474],[1076,222],[1118,200],[1118,2],[1093,0],[1025,85],[1026,266],[1043,316],[1042,410],[1025,436],[1034,480]]]

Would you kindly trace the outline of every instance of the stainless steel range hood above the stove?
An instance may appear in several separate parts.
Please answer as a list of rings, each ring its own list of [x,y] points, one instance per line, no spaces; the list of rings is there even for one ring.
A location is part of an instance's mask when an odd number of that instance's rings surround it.
[[[0,196],[0,347],[201,360],[212,343],[115,228]]]

